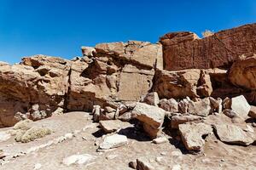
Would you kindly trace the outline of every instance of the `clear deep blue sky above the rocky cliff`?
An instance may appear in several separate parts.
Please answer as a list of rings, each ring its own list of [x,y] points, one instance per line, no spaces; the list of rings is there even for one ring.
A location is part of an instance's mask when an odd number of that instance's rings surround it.
[[[71,59],[99,42],[157,42],[170,31],[220,31],[256,22],[255,0],[0,0],[0,60]]]

